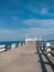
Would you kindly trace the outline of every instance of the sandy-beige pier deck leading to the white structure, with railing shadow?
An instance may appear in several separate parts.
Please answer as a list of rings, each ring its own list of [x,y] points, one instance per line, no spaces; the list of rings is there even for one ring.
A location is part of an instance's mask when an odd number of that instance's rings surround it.
[[[28,43],[0,53],[0,72],[54,72],[54,58]]]

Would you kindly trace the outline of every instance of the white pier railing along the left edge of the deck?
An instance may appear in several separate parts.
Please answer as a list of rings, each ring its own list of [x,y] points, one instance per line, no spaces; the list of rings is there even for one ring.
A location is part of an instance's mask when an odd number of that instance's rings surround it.
[[[24,44],[25,44],[25,42],[0,45],[0,52],[4,52],[4,51],[8,51],[8,50],[13,50],[13,49],[15,49],[18,47],[22,47]]]

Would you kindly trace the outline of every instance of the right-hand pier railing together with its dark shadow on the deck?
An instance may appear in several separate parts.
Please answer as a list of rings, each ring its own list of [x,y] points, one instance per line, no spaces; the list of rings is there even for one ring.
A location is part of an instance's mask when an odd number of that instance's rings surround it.
[[[39,55],[39,62],[41,64],[42,72],[54,72],[54,48],[52,45],[43,47],[43,43],[36,41],[36,54]],[[51,54],[51,55],[50,55]],[[50,66],[50,69],[46,66]]]

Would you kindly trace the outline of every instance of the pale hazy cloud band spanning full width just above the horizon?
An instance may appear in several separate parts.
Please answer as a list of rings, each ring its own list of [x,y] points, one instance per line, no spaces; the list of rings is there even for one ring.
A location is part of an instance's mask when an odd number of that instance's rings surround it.
[[[53,34],[54,28],[44,29],[44,28],[29,28],[29,29],[18,29],[18,30],[0,30],[0,40],[20,40],[24,35],[29,37],[43,37],[46,34]]]

